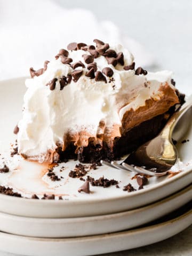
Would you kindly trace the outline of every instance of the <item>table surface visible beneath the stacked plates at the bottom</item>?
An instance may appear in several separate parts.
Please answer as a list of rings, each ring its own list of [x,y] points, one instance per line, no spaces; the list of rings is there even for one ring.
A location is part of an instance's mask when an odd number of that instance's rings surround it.
[[[63,254],[66,255],[66,254]],[[100,254],[98,256],[191,256],[192,226],[162,242],[143,246],[129,251]],[[17,256],[12,253],[0,252],[0,256]],[[46,256],[46,255],[45,255]],[[56,256],[56,255],[53,255]],[[70,256],[70,255],[66,255]]]

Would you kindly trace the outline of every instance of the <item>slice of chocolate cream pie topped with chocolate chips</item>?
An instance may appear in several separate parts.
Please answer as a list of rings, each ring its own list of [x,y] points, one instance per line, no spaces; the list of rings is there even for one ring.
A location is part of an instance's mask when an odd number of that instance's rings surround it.
[[[116,159],[153,138],[182,103],[172,73],[147,73],[121,45],[70,43],[30,68],[18,151],[26,159]]]

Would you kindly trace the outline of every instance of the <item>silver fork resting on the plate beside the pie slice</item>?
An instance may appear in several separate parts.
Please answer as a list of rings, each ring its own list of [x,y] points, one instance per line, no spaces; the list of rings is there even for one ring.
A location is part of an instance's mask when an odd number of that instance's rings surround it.
[[[178,159],[177,148],[172,142],[172,133],[181,117],[192,106],[192,95],[187,102],[175,112],[163,130],[154,139],[146,142],[137,150],[125,157],[121,164],[101,160],[102,164],[116,169],[161,177],[166,175]],[[190,117],[191,118],[191,117]],[[191,122],[189,118],[188,122]]]

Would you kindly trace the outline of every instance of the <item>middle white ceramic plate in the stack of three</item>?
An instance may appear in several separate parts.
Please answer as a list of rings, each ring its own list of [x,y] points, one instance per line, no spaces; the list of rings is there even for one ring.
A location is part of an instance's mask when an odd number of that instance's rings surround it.
[[[192,185],[154,204],[139,209],[93,217],[42,219],[0,213],[0,230],[34,237],[77,237],[135,228],[163,217],[192,200]]]

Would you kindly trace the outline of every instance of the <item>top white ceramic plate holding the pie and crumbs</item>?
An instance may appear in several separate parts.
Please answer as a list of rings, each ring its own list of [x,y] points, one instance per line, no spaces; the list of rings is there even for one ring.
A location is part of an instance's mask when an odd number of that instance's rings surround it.
[[[21,117],[22,98],[25,92],[24,80],[24,78],[17,78],[0,82],[0,153],[5,155],[9,151],[10,141],[15,139],[13,127]],[[129,182],[133,187],[138,188],[137,181],[131,180],[134,175],[131,172],[106,166],[92,170],[88,173],[92,177],[99,178],[104,175],[108,179],[114,178],[119,181],[120,188],[91,187],[92,193],[85,194],[77,191],[83,182],[68,177],[69,171],[73,170],[76,164],[75,161],[56,167],[55,172],[62,175],[63,179],[52,182],[46,177],[45,166],[20,160],[17,162],[16,169],[13,165],[9,173],[0,174],[1,184],[13,187],[23,196],[30,197],[34,193],[42,196],[47,193],[62,195],[64,200],[41,201],[0,195],[0,212],[37,218],[68,218],[127,211],[153,203],[188,186],[192,181],[190,162],[192,129],[186,136],[190,139],[189,142],[178,143],[179,155],[184,162],[179,166],[182,172],[172,178],[167,176],[150,178],[144,189],[132,193],[123,191],[123,187]],[[13,162],[13,159],[11,161]],[[60,173],[61,166],[64,166],[65,170]]]

